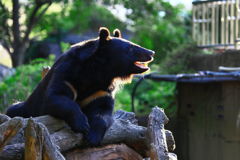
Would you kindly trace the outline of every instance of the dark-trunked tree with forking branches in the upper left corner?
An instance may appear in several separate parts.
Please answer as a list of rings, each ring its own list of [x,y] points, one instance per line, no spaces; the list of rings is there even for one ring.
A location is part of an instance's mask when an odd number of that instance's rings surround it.
[[[23,64],[30,33],[53,1],[0,1],[0,42],[10,54],[14,67]]]

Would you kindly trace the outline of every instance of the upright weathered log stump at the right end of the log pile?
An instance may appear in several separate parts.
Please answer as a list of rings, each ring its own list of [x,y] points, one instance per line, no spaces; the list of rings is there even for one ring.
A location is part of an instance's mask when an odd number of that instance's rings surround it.
[[[165,160],[174,157],[168,155],[168,147],[164,125],[168,122],[163,109],[154,107],[149,115],[148,135],[150,141],[151,160]]]

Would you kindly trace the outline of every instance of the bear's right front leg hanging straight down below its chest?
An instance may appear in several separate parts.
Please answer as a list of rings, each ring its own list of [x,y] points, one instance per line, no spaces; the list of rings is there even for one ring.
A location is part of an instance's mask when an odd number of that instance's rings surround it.
[[[94,100],[94,102],[84,110],[90,125],[90,131],[86,136],[90,145],[97,146],[102,141],[106,130],[113,122],[113,107],[113,99],[111,97],[103,97]]]

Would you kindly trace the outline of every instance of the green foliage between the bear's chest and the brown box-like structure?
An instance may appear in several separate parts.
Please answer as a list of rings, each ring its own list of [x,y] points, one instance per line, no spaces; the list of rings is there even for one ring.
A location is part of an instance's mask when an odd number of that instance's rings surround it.
[[[135,83],[127,85],[117,93],[115,110],[132,111],[131,93]],[[148,114],[152,107],[159,106],[165,109],[168,116],[174,116],[176,113],[175,87],[175,83],[144,80],[137,88],[134,98],[135,112],[138,115],[144,115]]]

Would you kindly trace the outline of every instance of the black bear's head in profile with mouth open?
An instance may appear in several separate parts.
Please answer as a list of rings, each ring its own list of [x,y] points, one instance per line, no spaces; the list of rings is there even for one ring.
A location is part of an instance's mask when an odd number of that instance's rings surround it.
[[[100,54],[106,57],[117,76],[149,70],[148,63],[153,60],[154,52],[123,39],[118,29],[114,30],[111,37],[108,29],[100,28],[99,43]]]

